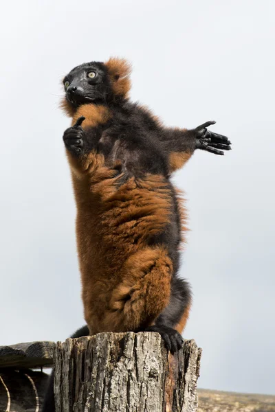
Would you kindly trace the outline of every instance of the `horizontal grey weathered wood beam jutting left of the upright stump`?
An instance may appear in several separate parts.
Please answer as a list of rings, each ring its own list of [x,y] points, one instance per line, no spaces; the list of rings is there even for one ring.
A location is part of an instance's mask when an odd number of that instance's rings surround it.
[[[0,346],[0,368],[51,366],[55,345],[45,341]]]

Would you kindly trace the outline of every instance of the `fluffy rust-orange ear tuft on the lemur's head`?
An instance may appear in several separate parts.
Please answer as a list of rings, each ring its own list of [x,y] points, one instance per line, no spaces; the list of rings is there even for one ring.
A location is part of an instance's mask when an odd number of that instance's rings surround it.
[[[111,77],[113,93],[126,98],[131,89],[131,65],[124,58],[111,57],[105,66]]]

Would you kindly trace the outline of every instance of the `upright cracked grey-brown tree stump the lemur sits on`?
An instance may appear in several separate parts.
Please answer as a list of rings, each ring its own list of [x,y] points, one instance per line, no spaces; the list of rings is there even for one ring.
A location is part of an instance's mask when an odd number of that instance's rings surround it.
[[[56,412],[193,412],[201,350],[168,354],[157,333],[102,333],[58,342]]]

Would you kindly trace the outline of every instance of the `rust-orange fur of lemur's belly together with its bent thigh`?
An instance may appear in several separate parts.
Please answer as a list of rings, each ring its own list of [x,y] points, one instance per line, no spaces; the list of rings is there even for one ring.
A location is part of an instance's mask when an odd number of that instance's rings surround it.
[[[160,313],[170,297],[173,266],[166,248],[148,246],[169,222],[168,184],[162,176],[148,174],[143,180],[131,178],[119,187],[120,177],[102,165],[87,179],[74,178],[83,304],[93,334],[134,330],[142,322],[142,304],[154,306],[153,323],[157,306]],[[155,301],[149,304],[144,295],[151,287],[155,288]],[[146,312],[150,310],[146,307]]]

